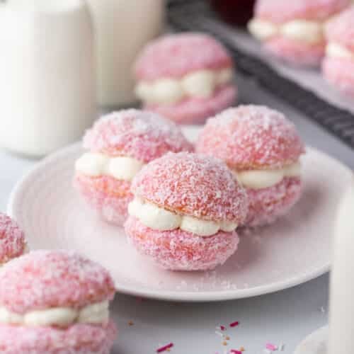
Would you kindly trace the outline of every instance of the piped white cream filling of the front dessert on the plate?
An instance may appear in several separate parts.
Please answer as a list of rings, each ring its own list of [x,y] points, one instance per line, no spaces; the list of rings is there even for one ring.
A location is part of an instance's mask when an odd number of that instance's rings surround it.
[[[217,234],[219,230],[232,232],[237,227],[234,222],[212,222],[187,215],[178,215],[139,198],[130,202],[128,212],[145,226],[159,231],[179,228],[198,236],[207,237]]]

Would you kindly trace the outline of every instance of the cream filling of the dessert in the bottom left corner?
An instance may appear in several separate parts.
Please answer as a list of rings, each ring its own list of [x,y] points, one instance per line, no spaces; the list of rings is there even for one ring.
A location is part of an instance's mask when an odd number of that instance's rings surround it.
[[[0,324],[14,324],[20,326],[59,326],[67,327],[71,324],[105,324],[109,319],[108,301],[91,304],[82,309],[71,307],[53,307],[31,311],[25,314],[15,314],[5,307],[0,307]]]

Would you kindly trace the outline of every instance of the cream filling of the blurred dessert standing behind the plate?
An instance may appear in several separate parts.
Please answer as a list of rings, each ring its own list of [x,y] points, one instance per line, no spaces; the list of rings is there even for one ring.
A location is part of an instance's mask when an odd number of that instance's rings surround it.
[[[147,103],[177,103],[186,96],[208,98],[218,86],[232,81],[233,76],[232,68],[198,70],[181,79],[166,77],[153,82],[139,81],[135,93]]]

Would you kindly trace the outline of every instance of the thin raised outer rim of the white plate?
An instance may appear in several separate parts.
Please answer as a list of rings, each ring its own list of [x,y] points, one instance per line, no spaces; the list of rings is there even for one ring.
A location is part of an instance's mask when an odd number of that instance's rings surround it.
[[[27,185],[33,175],[38,173],[38,170],[45,169],[47,164],[50,164],[51,161],[55,161],[56,159],[60,159],[62,156],[66,156],[73,150],[79,149],[81,147],[81,142],[76,142],[71,144],[63,149],[60,149],[58,152],[50,154],[49,156],[39,161],[32,169],[28,171],[28,173],[23,176],[13,188],[10,198],[8,200],[8,207],[7,213],[10,217],[14,217],[16,219],[16,199],[19,195],[23,193],[23,190],[27,188]],[[319,152],[321,154],[326,155],[328,159],[336,161],[336,163],[341,164],[348,170],[348,173],[352,173],[352,171],[343,164],[341,161],[329,156],[328,154],[319,151],[318,149],[314,149],[312,147],[307,147],[308,149],[312,149],[315,152]],[[308,282],[309,280],[313,280],[318,278],[321,275],[329,272],[331,268],[331,262],[322,265],[321,267],[312,270],[307,273],[303,273],[302,275],[297,275],[294,278],[288,278],[287,280],[282,280],[279,282],[269,283],[268,285],[262,285],[258,287],[253,287],[251,289],[241,289],[241,290],[228,290],[227,292],[220,292],[220,291],[208,291],[208,292],[176,292],[173,291],[166,291],[166,290],[148,290],[142,289],[137,290],[134,286],[120,284],[119,282],[116,283],[116,288],[118,292],[122,292],[126,295],[133,295],[136,297],[146,297],[150,299],[160,299],[166,301],[178,301],[178,302],[214,302],[214,301],[225,301],[225,300],[232,300],[232,299],[242,299],[246,297],[256,297],[261,295],[270,294],[273,292],[278,292],[280,290],[286,290],[290,287],[295,287],[297,285],[303,284],[304,282]]]

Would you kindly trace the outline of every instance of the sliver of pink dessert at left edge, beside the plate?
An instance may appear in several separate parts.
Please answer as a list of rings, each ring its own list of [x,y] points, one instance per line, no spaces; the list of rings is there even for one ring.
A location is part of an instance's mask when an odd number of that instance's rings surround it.
[[[11,217],[0,213],[0,266],[25,253],[25,234]]]

